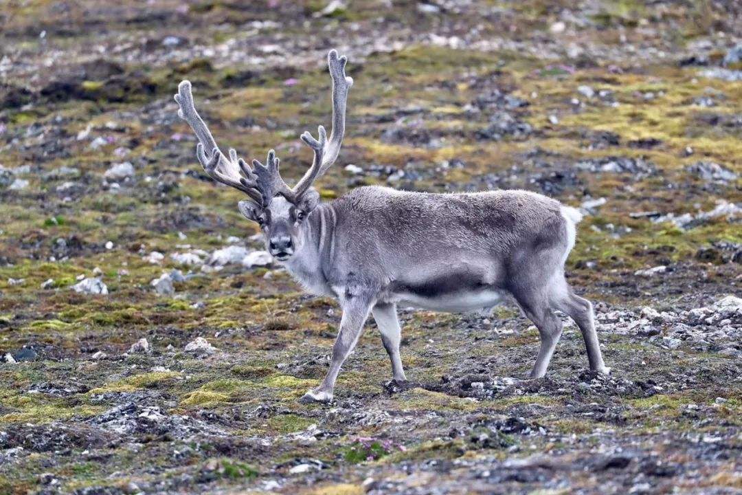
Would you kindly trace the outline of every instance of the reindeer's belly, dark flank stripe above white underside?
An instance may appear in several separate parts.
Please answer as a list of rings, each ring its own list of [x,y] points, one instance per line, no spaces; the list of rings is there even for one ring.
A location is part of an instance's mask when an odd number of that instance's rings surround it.
[[[470,270],[453,271],[430,278],[390,283],[393,298],[401,304],[446,312],[489,309],[499,304],[505,292],[491,274]]]

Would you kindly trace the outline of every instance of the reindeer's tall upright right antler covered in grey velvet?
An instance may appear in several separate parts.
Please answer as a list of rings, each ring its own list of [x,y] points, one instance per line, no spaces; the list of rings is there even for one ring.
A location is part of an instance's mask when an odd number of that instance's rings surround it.
[[[301,140],[315,151],[312,166],[306,171],[301,180],[292,189],[295,196],[303,194],[312,186],[312,183],[335,163],[340,153],[340,147],[345,135],[345,111],[348,101],[348,91],[353,85],[352,77],[345,75],[346,56],[338,56],[337,50],[329,50],[327,65],[332,76],[332,131],[329,141],[326,139],[324,127],[318,128],[319,140],[315,140],[309,132],[301,135]]]

